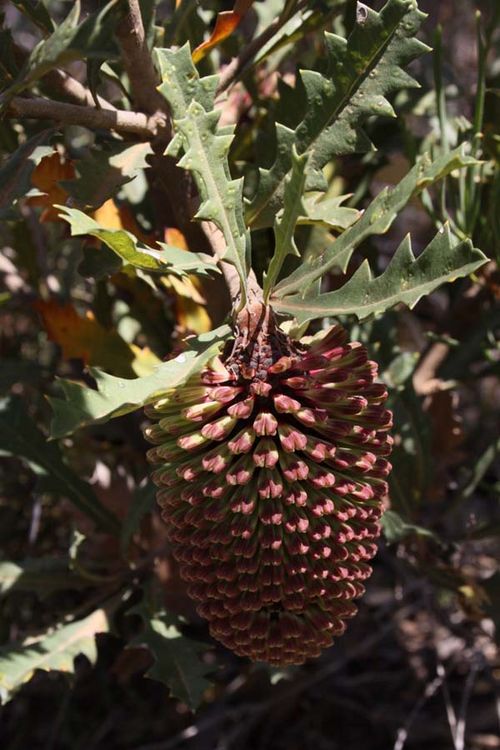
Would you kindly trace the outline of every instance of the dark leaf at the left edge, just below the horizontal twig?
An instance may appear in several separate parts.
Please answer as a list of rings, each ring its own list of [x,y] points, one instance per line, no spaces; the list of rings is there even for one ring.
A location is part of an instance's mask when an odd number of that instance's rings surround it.
[[[17,200],[32,188],[31,175],[44,156],[52,153],[52,146],[44,146],[53,129],[37,133],[23,143],[0,166],[0,219],[5,218]]]

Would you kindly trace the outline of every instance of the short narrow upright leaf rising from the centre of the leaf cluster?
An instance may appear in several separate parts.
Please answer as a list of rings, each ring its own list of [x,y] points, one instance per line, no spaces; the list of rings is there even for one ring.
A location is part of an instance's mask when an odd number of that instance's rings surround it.
[[[269,299],[269,295],[274,289],[287,255],[300,257],[294,234],[299,216],[306,213],[302,196],[308,159],[308,154],[299,156],[295,147],[293,148],[292,171],[285,184],[284,206],[274,221],[274,254],[269,263],[267,274],[264,276],[265,301]]]

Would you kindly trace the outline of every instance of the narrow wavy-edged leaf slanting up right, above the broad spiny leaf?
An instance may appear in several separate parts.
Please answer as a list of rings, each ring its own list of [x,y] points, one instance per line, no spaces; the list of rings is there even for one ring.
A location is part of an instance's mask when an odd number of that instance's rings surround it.
[[[271,300],[273,306],[284,304],[284,298],[289,294],[307,295],[311,284],[331,268],[336,267],[345,272],[352,254],[361,242],[372,235],[385,234],[412,196],[418,195],[453,170],[474,164],[477,161],[466,156],[463,147],[443,154],[435,161],[424,155],[396,187],[384,188],[361,218],[337,237],[321,255],[307,258],[299,268],[280,281]]]

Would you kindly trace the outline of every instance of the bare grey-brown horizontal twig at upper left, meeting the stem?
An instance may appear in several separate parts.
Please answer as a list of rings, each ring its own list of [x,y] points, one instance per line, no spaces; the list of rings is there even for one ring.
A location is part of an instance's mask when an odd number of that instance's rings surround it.
[[[28,99],[21,96],[11,99],[7,114],[10,117],[32,117],[54,120],[66,125],[82,125],[87,128],[133,133],[147,139],[154,138],[164,122],[157,115],[149,117],[142,112],[80,107],[76,104],[55,102],[40,97]]]

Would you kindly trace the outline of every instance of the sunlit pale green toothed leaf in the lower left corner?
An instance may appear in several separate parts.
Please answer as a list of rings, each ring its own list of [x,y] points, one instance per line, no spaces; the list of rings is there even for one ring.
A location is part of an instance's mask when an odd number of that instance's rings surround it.
[[[106,612],[98,609],[83,620],[62,625],[53,633],[0,649],[0,697],[9,700],[36,670],[74,673],[74,659],[97,659],[95,636],[108,631]]]

